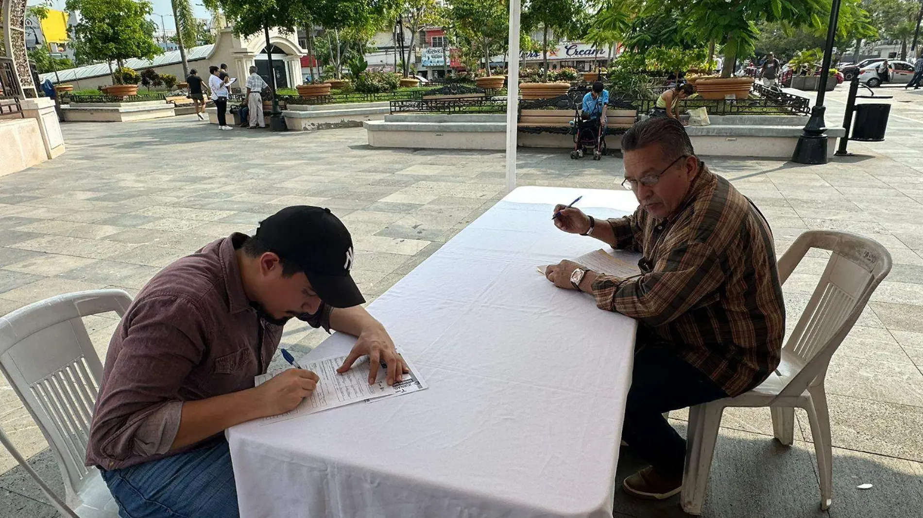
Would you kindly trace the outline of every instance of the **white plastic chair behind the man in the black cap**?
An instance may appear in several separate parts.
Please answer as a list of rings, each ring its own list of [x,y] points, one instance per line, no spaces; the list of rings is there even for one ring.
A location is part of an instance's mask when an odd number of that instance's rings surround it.
[[[81,317],[125,314],[121,289],[59,295],[0,318],[0,371],[39,425],[61,468],[65,499],[26,464],[0,430],[0,442],[35,479],[54,507],[73,518],[116,518],[118,507],[96,468],[83,465],[102,364]]]

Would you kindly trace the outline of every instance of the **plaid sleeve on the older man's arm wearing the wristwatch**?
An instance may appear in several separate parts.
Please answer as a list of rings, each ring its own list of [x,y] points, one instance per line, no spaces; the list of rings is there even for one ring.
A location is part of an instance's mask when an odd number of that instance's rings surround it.
[[[641,277],[596,277],[593,297],[600,309],[657,326],[712,296],[724,279],[718,254],[707,244],[692,242],[665,254],[653,272]]]

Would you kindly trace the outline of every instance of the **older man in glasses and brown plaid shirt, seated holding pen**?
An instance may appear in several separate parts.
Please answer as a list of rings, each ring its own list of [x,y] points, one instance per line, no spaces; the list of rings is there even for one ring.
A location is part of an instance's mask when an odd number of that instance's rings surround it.
[[[681,489],[686,453],[661,414],[762,383],[779,363],[785,307],[768,223],[695,156],[682,124],[635,124],[622,152],[622,185],[641,204],[635,213],[595,219],[557,206],[555,224],[643,253],[641,275],[605,276],[562,261],[546,277],[593,295],[600,309],[638,319],[622,437],[651,466],[623,486],[661,500]]]

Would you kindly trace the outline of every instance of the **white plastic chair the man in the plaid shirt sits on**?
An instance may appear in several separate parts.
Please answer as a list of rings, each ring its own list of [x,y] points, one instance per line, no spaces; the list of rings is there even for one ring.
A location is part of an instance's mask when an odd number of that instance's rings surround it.
[[[793,441],[795,407],[804,408],[820,471],[821,509],[830,507],[833,450],[823,380],[836,347],[856,323],[881,279],[891,271],[891,254],[877,241],[855,234],[809,230],[798,236],[779,260],[781,282],[785,283],[810,248],[829,250],[830,260],[783,347],[778,369],[746,394],[689,408],[689,444],[680,494],[683,511],[689,514],[701,514],[721,414],[727,406],[769,406],[773,434],[785,445]]]

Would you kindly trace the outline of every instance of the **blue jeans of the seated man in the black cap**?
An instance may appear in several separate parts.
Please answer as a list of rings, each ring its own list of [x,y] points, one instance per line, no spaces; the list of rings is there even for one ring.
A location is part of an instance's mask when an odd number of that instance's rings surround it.
[[[236,518],[237,489],[228,442],[106,471],[122,518]]]

